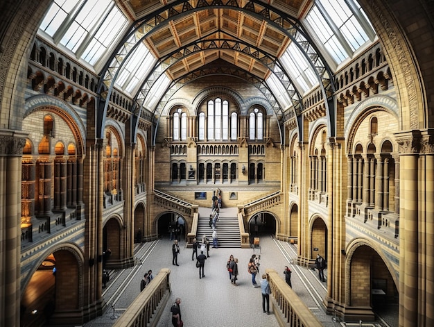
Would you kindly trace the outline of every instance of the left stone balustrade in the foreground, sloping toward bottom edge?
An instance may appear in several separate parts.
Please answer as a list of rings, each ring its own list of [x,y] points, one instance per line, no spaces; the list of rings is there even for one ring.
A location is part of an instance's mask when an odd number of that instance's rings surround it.
[[[171,294],[170,274],[170,269],[161,269],[123,312],[123,315],[117,319],[113,327],[157,326]]]

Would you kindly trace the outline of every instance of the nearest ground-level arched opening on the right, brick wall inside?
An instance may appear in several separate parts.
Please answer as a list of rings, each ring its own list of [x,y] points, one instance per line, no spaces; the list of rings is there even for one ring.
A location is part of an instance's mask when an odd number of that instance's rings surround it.
[[[351,306],[371,307],[379,315],[398,314],[398,290],[379,253],[370,246],[359,246],[351,255],[349,270]]]

